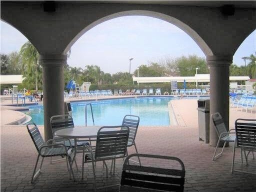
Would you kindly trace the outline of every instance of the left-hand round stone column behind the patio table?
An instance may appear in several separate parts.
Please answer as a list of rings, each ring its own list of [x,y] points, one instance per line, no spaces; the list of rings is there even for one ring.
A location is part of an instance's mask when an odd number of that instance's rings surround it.
[[[64,114],[64,54],[39,55],[42,65],[44,139],[52,138],[50,117]]]

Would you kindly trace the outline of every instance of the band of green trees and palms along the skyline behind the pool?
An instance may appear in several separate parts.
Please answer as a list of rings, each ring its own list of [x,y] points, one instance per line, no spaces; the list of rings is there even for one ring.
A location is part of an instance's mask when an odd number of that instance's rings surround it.
[[[68,52],[70,54],[70,50]],[[237,66],[234,63],[230,65],[231,76],[248,75],[250,78],[256,78],[255,55],[243,57],[249,62],[246,66]],[[0,55],[1,70],[0,74],[22,74],[24,80],[19,85],[20,88],[41,90],[42,89],[42,67],[38,64],[38,52],[35,47],[27,41],[20,48],[19,52]],[[198,74],[209,73],[209,67],[202,57],[196,55],[180,57],[164,57],[157,62],[148,61],[147,64],[141,64],[138,67],[139,76],[194,76],[195,68],[198,68]],[[116,72],[114,74],[105,73],[97,65],[84,65],[81,67],[71,67],[68,64],[64,66],[64,82],[70,79],[75,80],[79,85],[82,82],[89,81],[94,87],[104,87],[110,84],[122,84],[133,86],[132,75],[137,76],[137,69],[132,74],[128,72]],[[147,84],[144,84],[147,86]],[[128,86],[127,86],[128,87]]]

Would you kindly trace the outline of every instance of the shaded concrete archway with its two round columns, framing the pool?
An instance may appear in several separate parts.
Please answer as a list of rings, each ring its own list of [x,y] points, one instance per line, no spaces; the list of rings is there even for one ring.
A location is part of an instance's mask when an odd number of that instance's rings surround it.
[[[220,112],[228,126],[228,76],[232,55],[255,29],[256,6],[240,1],[1,1],[1,19],[24,34],[40,53],[43,66],[45,139],[51,137],[49,117],[64,112],[63,65],[66,50],[97,23],[127,14],[143,14],[175,24],[191,36],[210,67],[210,113]],[[52,97],[54,95],[54,97]],[[210,124],[210,144],[217,136]]]

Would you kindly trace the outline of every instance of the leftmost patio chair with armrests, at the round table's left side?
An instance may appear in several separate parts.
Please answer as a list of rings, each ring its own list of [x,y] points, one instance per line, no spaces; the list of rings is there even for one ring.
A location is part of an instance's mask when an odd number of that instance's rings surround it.
[[[39,129],[37,128],[37,126],[34,122],[27,124],[26,128],[27,128],[27,131],[29,132],[29,135],[35,145],[37,152],[38,152],[36,163],[35,163],[34,170],[32,173],[31,182],[33,182],[35,177],[39,174],[41,167],[42,167],[42,162],[43,162],[44,157],[51,157],[51,156],[65,156],[67,170],[69,171],[69,177],[70,177],[70,172],[71,172],[73,180],[75,180],[73,170],[72,170],[72,163],[71,163],[72,158],[73,158],[73,153],[74,153],[72,147],[67,147],[63,143],[53,144],[54,139],[49,139],[45,143],[40,134]],[[42,157],[40,167],[35,172],[40,156]]]

